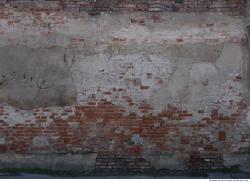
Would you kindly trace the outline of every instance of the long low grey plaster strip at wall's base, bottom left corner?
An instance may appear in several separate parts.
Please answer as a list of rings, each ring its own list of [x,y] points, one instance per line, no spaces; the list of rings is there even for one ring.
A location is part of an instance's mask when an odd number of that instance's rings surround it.
[[[85,155],[21,155],[0,154],[0,169],[45,168],[52,170],[89,171],[95,167],[96,154]]]

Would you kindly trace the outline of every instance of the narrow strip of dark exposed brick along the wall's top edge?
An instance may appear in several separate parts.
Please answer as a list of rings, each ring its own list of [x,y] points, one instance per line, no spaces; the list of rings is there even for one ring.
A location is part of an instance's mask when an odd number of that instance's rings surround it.
[[[239,14],[244,9],[244,0],[1,0],[1,6],[7,4],[16,8],[69,10],[88,12],[97,15],[100,12],[143,11],[143,12],[224,12]]]

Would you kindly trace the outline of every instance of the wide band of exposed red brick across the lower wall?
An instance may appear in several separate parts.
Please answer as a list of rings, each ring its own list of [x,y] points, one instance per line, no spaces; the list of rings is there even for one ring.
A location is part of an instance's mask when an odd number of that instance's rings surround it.
[[[232,144],[220,128],[236,126],[245,104],[240,103],[238,111],[230,116],[223,116],[215,110],[209,117],[193,124],[184,121],[192,117],[194,111],[168,106],[154,116],[148,106],[140,108],[145,112],[143,116],[135,113],[126,115],[122,108],[104,100],[64,108],[60,115],[49,108],[37,109],[33,111],[35,123],[26,121],[25,124],[10,126],[1,120],[0,132],[5,135],[5,144],[0,145],[0,152],[98,153],[96,170],[114,171],[152,168],[140,157],[143,154],[182,152],[190,154],[190,161],[187,161],[190,169],[216,168],[223,164],[218,163],[215,155],[230,150]],[[9,113],[1,107],[0,115],[5,118]],[[47,122],[51,124],[46,126]],[[213,145],[216,142],[210,141],[208,135],[202,132],[204,129],[218,133],[216,140],[219,146]],[[185,130],[190,130],[190,134],[183,133]],[[38,144],[35,141],[37,136],[40,137]],[[249,140],[246,135],[242,138]],[[152,144],[153,147],[148,148]]]

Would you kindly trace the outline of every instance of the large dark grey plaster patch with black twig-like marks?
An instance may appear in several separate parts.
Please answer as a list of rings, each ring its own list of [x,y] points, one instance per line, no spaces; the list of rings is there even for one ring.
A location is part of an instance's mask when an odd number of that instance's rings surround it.
[[[0,102],[21,109],[76,102],[76,89],[62,47],[0,48]]]

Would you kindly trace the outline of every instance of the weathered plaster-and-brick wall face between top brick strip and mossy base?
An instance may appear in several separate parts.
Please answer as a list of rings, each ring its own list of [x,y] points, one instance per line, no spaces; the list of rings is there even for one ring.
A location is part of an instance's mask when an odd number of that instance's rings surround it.
[[[0,167],[250,169],[243,17],[1,8]]]

